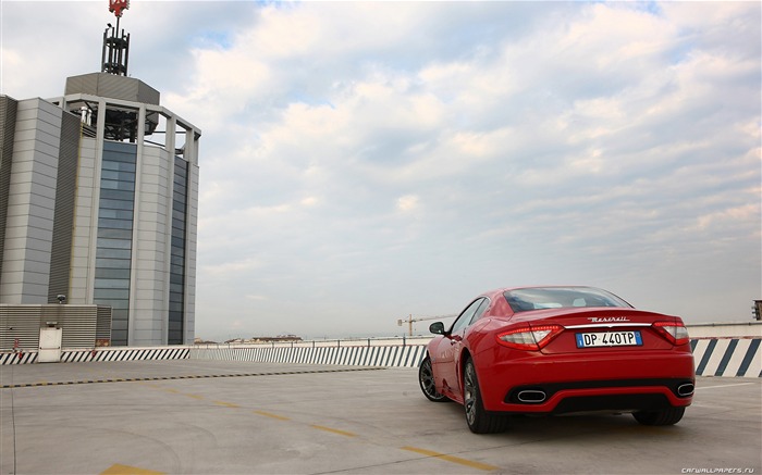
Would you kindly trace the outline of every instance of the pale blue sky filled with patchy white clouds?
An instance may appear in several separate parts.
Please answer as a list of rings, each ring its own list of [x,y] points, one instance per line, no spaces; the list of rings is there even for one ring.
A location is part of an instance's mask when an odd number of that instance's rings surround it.
[[[524,285],[752,321],[761,10],[132,0],[130,75],[202,133],[196,336],[403,335]],[[3,95],[100,71],[107,0],[0,13]]]

